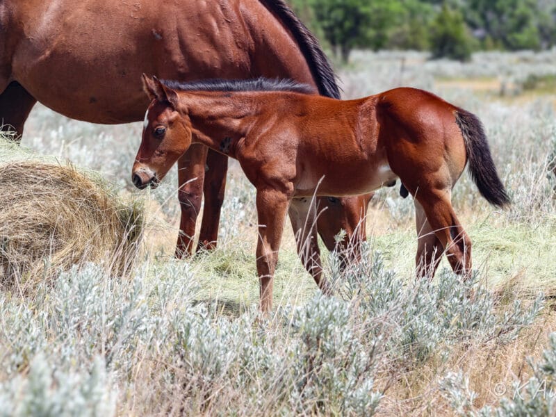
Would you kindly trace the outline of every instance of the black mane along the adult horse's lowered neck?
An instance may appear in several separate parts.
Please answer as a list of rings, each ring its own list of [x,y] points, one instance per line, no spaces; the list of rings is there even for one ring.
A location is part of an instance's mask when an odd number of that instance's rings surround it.
[[[261,2],[291,31],[295,42],[307,60],[320,95],[339,99],[340,88],[336,83],[336,74],[315,35],[297,18],[286,1],[261,0]]]

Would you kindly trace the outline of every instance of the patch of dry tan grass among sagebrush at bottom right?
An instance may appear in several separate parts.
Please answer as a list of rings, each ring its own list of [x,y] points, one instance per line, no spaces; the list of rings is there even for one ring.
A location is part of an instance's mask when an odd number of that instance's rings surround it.
[[[474,407],[496,407],[503,397],[516,394],[513,384],[523,386],[532,376],[530,360],[539,361],[555,327],[556,314],[547,309],[512,343],[461,343],[451,347],[448,360],[432,358],[402,375],[385,373],[377,378],[377,388],[385,393],[378,415],[454,415],[439,389],[440,379],[450,370],[461,370],[469,378],[478,394]]]

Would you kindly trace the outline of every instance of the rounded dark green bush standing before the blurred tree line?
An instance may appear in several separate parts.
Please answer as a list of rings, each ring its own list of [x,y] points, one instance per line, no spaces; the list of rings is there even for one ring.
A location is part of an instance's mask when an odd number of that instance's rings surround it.
[[[436,15],[431,26],[432,58],[471,59],[472,38],[459,10],[450,10],[447,3]]]

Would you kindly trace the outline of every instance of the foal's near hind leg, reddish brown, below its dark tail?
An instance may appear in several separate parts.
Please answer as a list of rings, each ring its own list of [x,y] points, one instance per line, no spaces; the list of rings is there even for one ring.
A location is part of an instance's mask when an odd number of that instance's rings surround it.
[[[423,206],[427,222],[439,243],[445,248],[445,254],[454,272],[468,277],[471,273],[471,240],[457,219],[450,202],[450,194],[450,190],[420,188],[415,198]]]

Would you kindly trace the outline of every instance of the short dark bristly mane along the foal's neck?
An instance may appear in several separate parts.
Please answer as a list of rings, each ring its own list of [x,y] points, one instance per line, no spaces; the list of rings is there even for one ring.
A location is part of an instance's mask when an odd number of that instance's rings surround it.
[[[179,81],[161,80],[161,82],[172,90],[179,91],[286,91],[300,92],[301,94],[314,94],[315,89],[311,85],[297,83],[289,79],[265,79],[263,77],[250,80],[199,80],[186,83]]]

